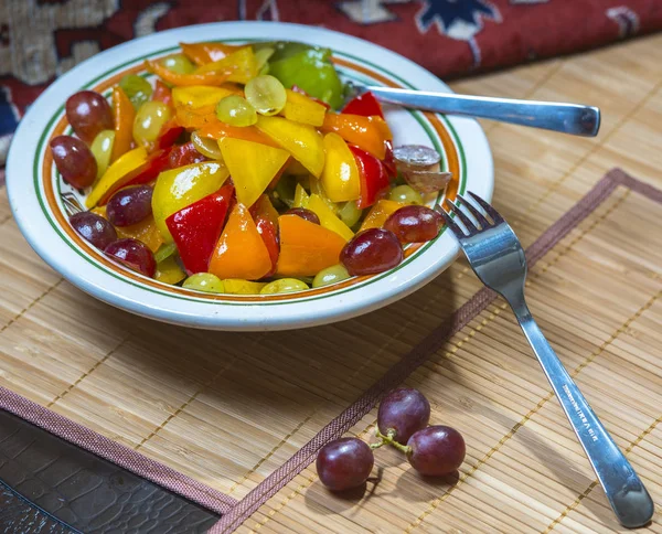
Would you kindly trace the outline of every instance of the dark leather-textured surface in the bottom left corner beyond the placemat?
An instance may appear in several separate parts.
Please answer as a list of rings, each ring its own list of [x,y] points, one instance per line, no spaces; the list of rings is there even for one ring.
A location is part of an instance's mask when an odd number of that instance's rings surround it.
[[[2,410],[0,481],[13,490],[0,485],[2,533],[60,534],[72,532],[71,526],[84,533],[174,534],[205,532],[218,521],[218,515]]]

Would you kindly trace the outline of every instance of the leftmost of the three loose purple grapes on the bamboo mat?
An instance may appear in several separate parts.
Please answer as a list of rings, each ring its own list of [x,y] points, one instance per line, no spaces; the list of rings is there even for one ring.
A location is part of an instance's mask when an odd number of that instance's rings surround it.
[[[340,438],[322,447],[316,467],[327,488],[342,491],[365,483],[374,462],[372,449],[364,441]]]

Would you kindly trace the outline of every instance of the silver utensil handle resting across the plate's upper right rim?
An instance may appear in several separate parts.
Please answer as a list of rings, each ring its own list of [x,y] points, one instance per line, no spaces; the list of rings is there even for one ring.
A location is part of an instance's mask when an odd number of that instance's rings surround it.
[[[382,102],[427,111],[480,117],[584,137],[595,137],[600,129],[600,110],[592,106],[391,87],[366,87],[366,89]]]

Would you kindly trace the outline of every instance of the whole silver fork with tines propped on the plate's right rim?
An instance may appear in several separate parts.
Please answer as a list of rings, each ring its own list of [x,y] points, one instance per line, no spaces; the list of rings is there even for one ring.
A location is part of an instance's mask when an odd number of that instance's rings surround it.
[[[481,281],[501,295],[513,309],[619,522],[628,528],[645,525],[654,512],[649,492],[528,311],[524,300],[526,258],[520,239],[496,210],[478,195],[469,194],[483,211],[458,195],[458,204],[449,202],[456,220],[439,209],[446,224],[460,242],[471,268]],[[462,212],[462,205],[478,225]],[[467,232],[457,224],[458,220]]]

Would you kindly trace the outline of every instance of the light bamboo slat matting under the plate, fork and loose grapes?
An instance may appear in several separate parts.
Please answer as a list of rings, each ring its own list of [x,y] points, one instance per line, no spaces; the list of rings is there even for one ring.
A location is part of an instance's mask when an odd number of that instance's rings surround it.
[[[462,92],[602,107],[597,140],[488,126],[494,203],[525,245],[615,163],[660,184],[661,44],[649,38],[456,84]],[[662,236],[653,228],[660,206],[623,186],[611,193],[558,243],[548,242],[551,250],[538,242],[527,291],[552,344],[659,502]],[[505,305],[488,303],[448,341],[437,331],[427,344],[440,324],[453,332],[445,320],[460,320],[453,312],[481,289],[463,261],[405,300],[349,322],[264,334],[191,331],[128,316],[63,282],[24,244],[2,191],[0,275],[0,385],[35,403],[21,400],[24,415],[43,420],[46,407],[79,424],[78,437],[87,428],[139,452],[114,445],[125,467],[215,502],[225,513],[220,527],[249,515],[241,531],[617,528]],[[479,293],[478,305],[488,297]],[[459,481],[424,482],[395,451],[380,449],[381,481],[366,495],[339,500],[313,469],[297,474],[310,458],[278,490],[274,473],[311,439],[342,430],[339,423],[318,435],[360,397],[367,400],[343,420],[349,434],[370,438],[375,412],[363,413],[374,395],[362,394],[413,348],[412,357],[434,354],[408,384],[428,395],[433,420],[467,439]],[[62,431],[74,428],[50,417],[64,424]],[[89,436],[107,451],[108,442]],[[276,493],[254,511],[263,492]]]

